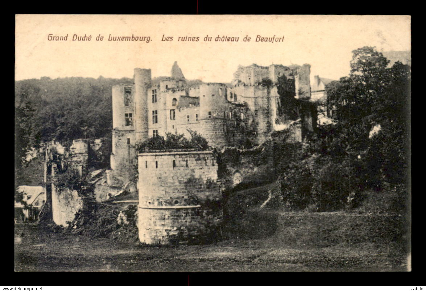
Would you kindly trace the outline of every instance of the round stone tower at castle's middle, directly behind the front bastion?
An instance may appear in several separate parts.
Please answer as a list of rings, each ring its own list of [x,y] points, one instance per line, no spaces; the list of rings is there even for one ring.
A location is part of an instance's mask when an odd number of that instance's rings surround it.
[[[229,111],[227,88],[221,83],[200,85],[201,135],[215,148],[226,143],[226,114]]]

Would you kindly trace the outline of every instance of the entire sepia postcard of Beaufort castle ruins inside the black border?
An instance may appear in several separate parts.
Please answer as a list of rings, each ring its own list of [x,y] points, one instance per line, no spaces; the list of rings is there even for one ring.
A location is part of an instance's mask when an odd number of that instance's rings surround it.
[[[14,86],[15,272],[412,271],[408,15],[16,14]]]

